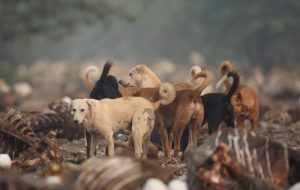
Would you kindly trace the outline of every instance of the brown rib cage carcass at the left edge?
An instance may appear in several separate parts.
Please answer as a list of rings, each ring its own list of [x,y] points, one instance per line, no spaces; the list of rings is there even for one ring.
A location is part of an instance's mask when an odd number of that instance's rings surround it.
[[[28,172],[50,162],[61,162],[55,135],[39,137],[13,109],[0,118],[0,150],[13,159],[15,168]]]

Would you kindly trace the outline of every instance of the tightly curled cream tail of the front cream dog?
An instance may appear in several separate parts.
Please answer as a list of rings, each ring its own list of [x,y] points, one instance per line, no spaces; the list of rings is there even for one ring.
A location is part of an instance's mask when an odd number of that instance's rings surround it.
[[[170,83],[162,83],[159,87],[160,100],[154,103],[155,109],[157,109],[161,104],[168,105],[174,101],[176,98],[175,87]]]

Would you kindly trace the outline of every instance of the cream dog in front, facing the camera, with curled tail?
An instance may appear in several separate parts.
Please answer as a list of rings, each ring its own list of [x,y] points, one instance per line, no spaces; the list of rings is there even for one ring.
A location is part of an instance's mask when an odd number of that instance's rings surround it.
[[[154,111],[160,104],[170,104],[176,96],[169,83],[160,86],[161,99],[155,103],[142,97],[121,97],[117,99],[76,99],[71,103],[74,123],[83,123],[92,134],[91,153],[94,154],[100,136],[108,144],[109,156],[114,155],[113,134],[132,126],[135,155],[141,158],[147,154],[150,134],[154,127]]]

